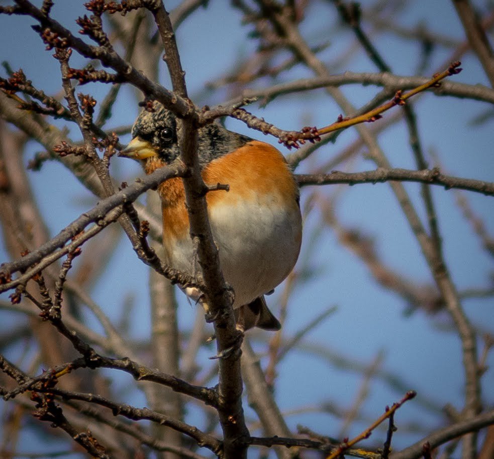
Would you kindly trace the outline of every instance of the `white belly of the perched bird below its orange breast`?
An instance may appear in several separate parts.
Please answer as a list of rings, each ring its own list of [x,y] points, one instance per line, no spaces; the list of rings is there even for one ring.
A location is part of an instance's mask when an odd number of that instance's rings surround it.
[[[272,290],[295,265],[302,234],[301,215],[295,206],[287,213],[275,200],[262,204],[236,201],[215,206],[209,214],[223,275],[235,291],[234,307]],[[165,245],[170,265],[191,273],[190,239],[168,240]]]

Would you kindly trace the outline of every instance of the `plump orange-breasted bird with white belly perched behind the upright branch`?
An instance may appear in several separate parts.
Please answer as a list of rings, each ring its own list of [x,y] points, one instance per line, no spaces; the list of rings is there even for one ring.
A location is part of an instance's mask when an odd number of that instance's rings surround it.
[[[137,117],[132,140],[119,156],[137,160],[146,174],[180,155],[175,114],[153,101]],[[281,152],[269,143],[210,123],[198,130],[197,155],[209,186],[228,191],[206,195],[208,218],[225,281],[234,290],[237,329],[277,331],[279,321],[264,295],[291,272],[300,253],[300,192]],[[157,188],[163,217],[163,246],[169,266],[200,273],[189,234],[185,193],[180,178]],[[196,289],[185,289],[196,301]]]

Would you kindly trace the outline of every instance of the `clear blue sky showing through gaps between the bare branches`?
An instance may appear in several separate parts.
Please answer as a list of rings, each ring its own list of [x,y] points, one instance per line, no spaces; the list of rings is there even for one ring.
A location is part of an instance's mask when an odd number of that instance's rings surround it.
[[[82,2],[65,0],[55,3],[53,16],[65,24],[70,24],[68,18],[75,19],[85,13]],[[167,6],[171,9],[174,4],[170,2]],[[361,2],[364,9],[370,4]],[[478,5],[483,8],[483,3]],[[410,6],[394,19],[403,26],[412,28],[423,24],[435,33],[457,40],[464,39],[452,4],[446,0],[410,2]],[[9,62],[13,69],[23,68],[34,85],[43,88],[47,93],[57,92],[60,89],[57,62],[51,58],[52,52],[44,51],[44,45],[29,28],[30,24],[34,24],[34,21],[28,18],[0,16],[0,40],[3,43],[1,59]],[[77,31],[78,26],[73,21],[71,24],[71,29]],[[337,35],[337,25],[333,9],[323,2],[315,2],[309,8],[308,16],[302,24],[302,31],[310,38],[311,44],[318,43],[323,37],[329,37],[331,45],[321,55],[324,62],[331,62],[353,40],[349,32]],[[198,105],[214,105],[226,97],[226,91],[213,94],[205,91],[204,86],[227,71],[236,58],[248,55],[254,49],[255,42],[245,38],[250,30],[251,26],[242,25],[241,16],[237,11],[232,11],[227,2],[210,2],[207,9],[200,9],[181,26],[177,33],[177,42],[186,71],[189,94]],[[417,45],[386,33],[379,35],[376,46],[390,63],[394,73],[409,75],[415,72]],[[436,66],[443,63],[450,53],[449,49],[435,49],[425,75],[435,71]],[[452,80],[488,85],[480,65],[471,55],[466,55],[462,61],[463,72],[451,77]],[[76,66],[80,62],[80,59],[74,57],[72,65]],[[345,68],[338,69],[336,73],[343,70],[376,71],[362,52],[356,53]],[[164,73],[163,69],[162,74]],[[5,76],[5,73],[2,75]],[[281,75],[279,81],[311,75],[309,70],[299,66]],[[167,84],[165,76],[162,83]],[[270,83],[265,79],[258,85],[264,87]],[[101,98],[107,90],[103,85],[87,85],[82,89],[96,98]],[[343,91],[356,106],[360,106],[370,100],[378,88],[351,85],[344,87]],[[416,111],[424,149],[428,155],[429,152],[434,152],[439,158],[441,168],[448,174],[492,180],[492,118],[481,125],[472,125],[470,122],[477,114],[487,109],[487,104],[482,102],[436,97],[432,94],[423,95],[417,102]],[[297,129],[307,124],[326,125],[335,120],[341,112],[322,90],[304,94],[302,97],[279,97],[265,108],[253,105],[249,111],[285,129]],[[138,107],[131,92],[122,91],[110,126],[131,124],[137,112]],[[226,124],[231,129],[278,146],[276,139],[250,131],[241,122],[227,120]],[[57,122],[57,125],[65,123]],[[76,137],[76,131],[73,132]],[[318,164],[337,154],[355,138],[356,131],[348,129],[338,137],[336,144],[321,148],[314,158],[303,163],[300,172],[314,170]],[[122,138],[122,141],[128,140],[128,137]],[[415,167],[404,123],[398,123],[383,132],[379,136],[379,142],[394,167]],[[34,152],[40,149],[39,145],[30,142],[25,161],[31,159]],[[283,149],[282,152],[287,154],[288,151]],[[111,171],[117,183],[142,175],[137,165],[129,163],[118,159],[113,161]],[[431,164],[433,163],[431,160]],[[375,168],[370,161],[361,157],[350,167],[352,170]],[[53,235],[95,203],[95,198],[79,185],[63,166],[55,162],[45,164],[41,172],[31,172],[30,180],[39,206],[48,216],[47,223]],[[423,217],[420,187],[407,184],[406,188]],[[302,190],[303,205],[312,191],[312,188]],[[333,193],[341,194],[336,208],[340,222],[349,227],[358,227],[365,234],[372,236],[379,255],[397,272],[417,282],[431,283],[431,275],[420,248],[411,237],[410,228],[388,184],[358,185],[352,188],[326,187],[318,191],[319,199],[330,199]],[[444,239],[445,258],[457,287],[461,290],[488,284],[493,260],[482,251],[479,239],[472,234],[469,223],[463,219],[456,206],[455,193],[439,187],[433,187],[432,191]],[[473,193],[467,193],[466,197],[492,234],[492,198]],[[411,389],[432,397],[437,403],[449,402],[455,408],[461,409],[464,380],[460,342],[456,335],[438,327],[449,324],[447,314],[440,313],[431,317],[418,311],[406,316],[404,311],[407,305],[403,300],[376,285],[367,268],[338,242],[330,229],[322,227],[319,210],[313,211],[306,221],[301,258],[304,258],[309,248],[309,236],[313,234],[317,234],[318,245],[311,259],[311,266],[317,268],[318,275],[295,287],[284,326],[286,336],[291,336],[330,305],[337,305],[337,312],[314,329],[307,337],[307,342],[367,364],[382,351],[382,369],[409,381]],[[0,246],[0,259],[3,261],[6,258],[5,250]],[[146,279],[147,268],[137,260],[129,242],[122,238],[118,252],[112,260],[111,272],[102,276],[91,292],[92,297],[114,321],[120,318],[121,304],[126,295],[134,295],[133,338],[145,339],[149,335]],[[273,311],[277,311],[278,295],[282,288],[278,287],[277,292],[268,298]],[[179,299],[180,323],[189,324],[194,317],[194,307],[181,293]],[[475,325],[494,332],[491,298],[467,300],[464,302],[464,309]],[[4,323],[18,320],[18,316],[3,311],[0,311],[0,316],[3,317]],[[97,329],[95,323],[94,327]],[[262,341],[256,343],[256,349],[264,352],[265,344]],[[479,349],[482,349],[480,340]],[[494,363],[492,355],[489,356],[488,363]],[[278,372],[276,398],[283,410],[318,405],[325,401],[350,407],[362,383],[360,374],[342,371],[328,361],[303,350],[289,354],[279,366]],[[117,383],[118,375],[112,373],[111,377],[115,378]],[[484,400],[487,406],[492,406],[492,370],[486,372],[482,381]],[[400,399],[401,396],[402,394],[392,390],[381,380],[374,380],[370,384],[369,397],[362,406],[362,413],[367,417],[377,417],[385,405]],[[133,397],[138,395],[133,394]],[[139,398],[133,398],[129,402],[145,403]],[[440,415],[428,413],[418,404],[409,402],[400,410],[396,423],[400,426],[400,422],[418,419],[426,428],[436,427],[442,421]],[[338,432],[341,425],[338,419],[329,414],[295,414],[288,416],[287,421],[293,429],[297,424],[304,424],[327,435]],[[350,433],[355,434],[364,426],[365,423],[356,422]],[[395,446],[405,446],[420,436],[420,433],[397,436]],[[372,438],[381,442],[384,436],[380,433]]]

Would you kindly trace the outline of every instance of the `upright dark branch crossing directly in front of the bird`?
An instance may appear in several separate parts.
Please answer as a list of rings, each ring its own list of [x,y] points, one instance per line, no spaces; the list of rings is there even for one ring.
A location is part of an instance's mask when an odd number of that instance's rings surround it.
[[[173,90],[187,97],[185,73],[175,42],[175,34],[162,2],[152,10],[166,52],[165,62],[170,73]],[[213,241],[205,199],[207,190],[197,159],[197,129],[192,112],[179,123],[181,159],[190,177],[183,178],[190,236],[197,240],[197,255],[202,267],[208,301],[211,302],[219,357],[220,422],[224,435],[225,457],[246,457],[247,446],[243,438],[249,436],[242,408],[242,374],[240,369],[240,344],[242,336],[236,330],[233,316],[233,298],[226,288],[221,272],[218,249]],[[181,124],[181,126],[180,126]]]

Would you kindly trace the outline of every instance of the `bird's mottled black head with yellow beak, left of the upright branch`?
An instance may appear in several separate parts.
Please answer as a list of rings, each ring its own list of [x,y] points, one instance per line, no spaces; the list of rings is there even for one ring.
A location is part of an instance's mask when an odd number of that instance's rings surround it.
[[[143,110],[132,126],[132,140],[119,156],[139,161],[148,170],[151,163],[170,164],[180,154],[175,115],[160,103]]]

